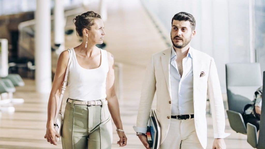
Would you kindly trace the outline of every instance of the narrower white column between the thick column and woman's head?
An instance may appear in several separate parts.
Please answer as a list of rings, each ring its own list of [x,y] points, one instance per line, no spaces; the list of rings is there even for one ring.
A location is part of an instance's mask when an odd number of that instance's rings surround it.
[[[64,1],[55,0],[54,5],[54,43],[61,44],[60,52],[64,50]]]

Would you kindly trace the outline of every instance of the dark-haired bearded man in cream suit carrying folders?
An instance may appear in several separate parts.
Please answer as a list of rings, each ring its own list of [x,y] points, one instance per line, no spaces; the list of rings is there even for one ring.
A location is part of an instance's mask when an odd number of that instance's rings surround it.
[[[195,19],[179,12],[171,22],[173,46],[153,54],[147,65],[134,130],[145,148],[145,135],[154,93],[156,116],[161,126],[160,148],[206,148],[206,97],[210,99],[213,118],[213,148],[226,148],[223,138],[225,116],[220,82],[214,59],[193,49]]]

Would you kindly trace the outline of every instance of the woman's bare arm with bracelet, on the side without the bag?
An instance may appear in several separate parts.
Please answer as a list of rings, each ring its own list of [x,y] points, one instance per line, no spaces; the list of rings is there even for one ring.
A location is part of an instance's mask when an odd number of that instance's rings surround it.
[[[109,72],[107,74],[107,80],[106,80],[106,94],[108,101],[108,108],[109,112],[111,113],[111,117],[113,119],[114,124],[116,125],[117,129],[123,130],[122,122],[121,122],[121,116],[120,116],[120,108],[119,108],[119,102],[118,98],[115,92],[115,86],[114,86],[114,58],[111,53],[108,52],[108,64],[109,64]],[[120,141],[117,143],[120,144],[120,146],[125,146],[127,143],[127,138],[124,134],[124,132],[117,131]]]

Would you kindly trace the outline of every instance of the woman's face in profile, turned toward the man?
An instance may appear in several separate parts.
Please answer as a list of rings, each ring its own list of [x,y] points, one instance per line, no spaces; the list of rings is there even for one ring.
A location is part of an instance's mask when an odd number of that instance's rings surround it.
[[[103,21],[99,18],[94,19],[94,25],[88,31],[88,43],[102,44],[105,35]]]

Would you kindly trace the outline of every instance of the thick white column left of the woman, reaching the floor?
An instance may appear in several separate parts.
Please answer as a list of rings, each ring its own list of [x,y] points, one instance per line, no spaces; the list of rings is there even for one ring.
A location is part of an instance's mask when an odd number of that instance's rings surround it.
[[[35,11],[36,91],[51,91],[51,0],[37,1]]]

